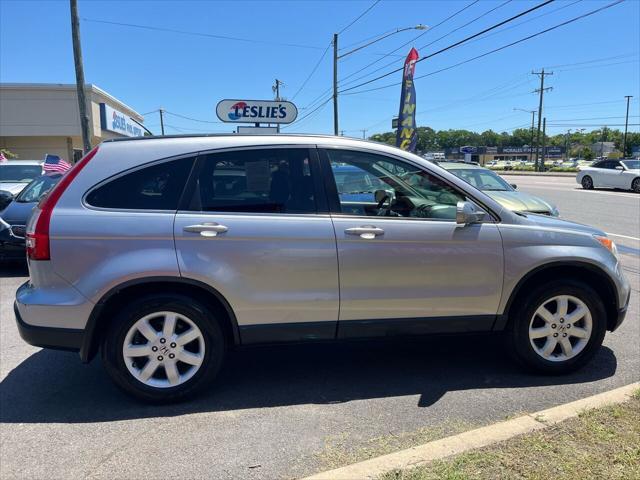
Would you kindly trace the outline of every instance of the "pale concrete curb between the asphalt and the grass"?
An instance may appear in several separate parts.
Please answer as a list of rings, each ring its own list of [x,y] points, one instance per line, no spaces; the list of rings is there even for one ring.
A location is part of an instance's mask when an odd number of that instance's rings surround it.
[[[303,480],[374,479],[391,470],[417,467],[433,460],[493,445],[517,435],[542,430],[563,420],[576,417],[584,410],[622,403],[628,400],[633,392],[639,388],[640,382],[632,383],[582,400],[476,428],[346,467],[317,473]]]

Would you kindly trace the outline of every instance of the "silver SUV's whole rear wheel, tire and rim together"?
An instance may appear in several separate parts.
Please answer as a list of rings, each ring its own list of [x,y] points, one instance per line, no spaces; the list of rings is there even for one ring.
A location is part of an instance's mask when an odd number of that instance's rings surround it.
[[[102,344],[114,382],[148,402],[184,400],[208,385],[225,352],[211,312],[180,295],[150,295],[125,307]]]

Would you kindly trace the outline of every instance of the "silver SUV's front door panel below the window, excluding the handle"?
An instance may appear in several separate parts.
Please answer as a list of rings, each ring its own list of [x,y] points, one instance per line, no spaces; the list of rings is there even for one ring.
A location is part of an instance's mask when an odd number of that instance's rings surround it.
[[[333,222],[341,321],[496,314],[503,259],[495,224],[339,216]],[[384,233],[345,232],[365,225]]]

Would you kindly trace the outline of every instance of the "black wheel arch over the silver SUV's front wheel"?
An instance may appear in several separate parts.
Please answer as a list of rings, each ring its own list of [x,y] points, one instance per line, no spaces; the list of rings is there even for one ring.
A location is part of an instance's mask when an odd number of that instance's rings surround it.
[[[618,315],[618,297],[615,284],[601,268],[586,262],[553,262],[534,268],[524,275],[509,295],[502,315],[498,315],[494,330],[504,330],[510,321],[518,300],[524,299],[529,291],[541,283],[557,278],[570,278],[586,283],[602,298],[607,315],[607,330],[615,328]]]

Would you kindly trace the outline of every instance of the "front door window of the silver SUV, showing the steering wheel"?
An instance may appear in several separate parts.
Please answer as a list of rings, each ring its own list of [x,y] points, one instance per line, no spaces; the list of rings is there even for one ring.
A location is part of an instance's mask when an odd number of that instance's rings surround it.
[[[342,213],[362,216],[455,220],[465,197],[448,183],[393,158],[364,152],[326,150]],[[341,180],[348,172],[351,190]]]

